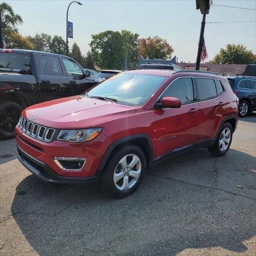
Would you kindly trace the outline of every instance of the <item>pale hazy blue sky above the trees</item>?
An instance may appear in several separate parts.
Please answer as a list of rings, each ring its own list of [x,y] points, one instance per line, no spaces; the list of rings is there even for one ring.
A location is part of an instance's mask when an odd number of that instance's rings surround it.
[[[2,0],[1,0],[2,2]],[[18,26],[23,36],[36,33],[60,35],[66,38],[66,12],[71,1],[65,0],[5,0],[21,15]],[[140,38],[160,36],[174,49],[178,61],[195,62],[202,14],[196,10],[196,0],[80,0],[69,8],[68,20],[73,22],[74,38],[82,53],[90,50],[91,35],[105,30],[130,30]],[[255,0],[213,0],[213,5],[229,5],[256,9]],[[256,11],[212,6],[206,22],[255,21]],[[256,53],[256,22],[209,23],[205,25],[205,44],[210,61],[228,43],[244,44]],[[65,39],[66,40],[66,39]]]

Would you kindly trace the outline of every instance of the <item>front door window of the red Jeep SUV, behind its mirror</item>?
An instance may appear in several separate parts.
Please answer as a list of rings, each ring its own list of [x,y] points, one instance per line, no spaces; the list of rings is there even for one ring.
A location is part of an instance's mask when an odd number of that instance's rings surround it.
[[[179,78],[174,81],[163,93],[164,97],[174,97],[180,99],[182,104],[194,101],[194,90],[191,78]]]

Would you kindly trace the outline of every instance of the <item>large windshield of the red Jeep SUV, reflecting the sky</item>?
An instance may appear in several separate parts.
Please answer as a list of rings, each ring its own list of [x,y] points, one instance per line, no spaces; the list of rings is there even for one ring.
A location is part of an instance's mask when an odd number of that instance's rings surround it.
[[[165,76],[121,73],[95,86],[86,95],[110,98],[123,105],[139,107],[166,79]]]

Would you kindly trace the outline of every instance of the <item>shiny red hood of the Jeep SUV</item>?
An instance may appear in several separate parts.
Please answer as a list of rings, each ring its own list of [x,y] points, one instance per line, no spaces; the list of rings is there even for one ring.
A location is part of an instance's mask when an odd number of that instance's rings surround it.
[[[57,129],[79,129],[136,113],[136,108],[114,102],[82,97],[61,98],[26,108],[23,115],[35,123]]]

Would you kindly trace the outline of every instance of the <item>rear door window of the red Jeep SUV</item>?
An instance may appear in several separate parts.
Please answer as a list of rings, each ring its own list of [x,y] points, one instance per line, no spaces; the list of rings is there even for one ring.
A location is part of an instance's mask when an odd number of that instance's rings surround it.
[[[213,79],[196,78],[199,100],[205,100],[217,96],[217,90]]]

